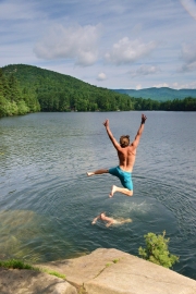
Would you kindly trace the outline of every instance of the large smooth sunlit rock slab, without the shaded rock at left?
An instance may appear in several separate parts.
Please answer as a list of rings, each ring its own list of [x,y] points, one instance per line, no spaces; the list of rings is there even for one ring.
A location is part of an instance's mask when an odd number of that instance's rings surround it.
[[[195,280],[112,248],[39,266],[65,274],[88,294],[196,294]]]

